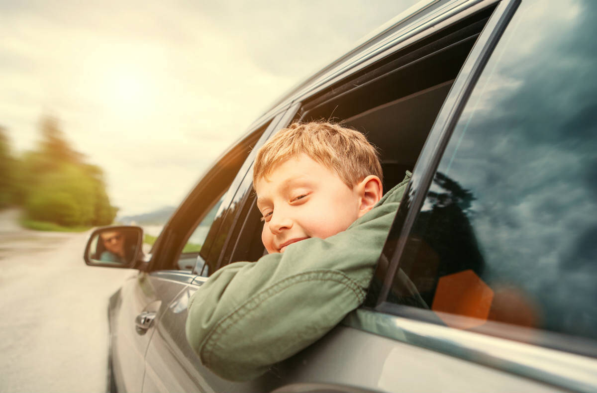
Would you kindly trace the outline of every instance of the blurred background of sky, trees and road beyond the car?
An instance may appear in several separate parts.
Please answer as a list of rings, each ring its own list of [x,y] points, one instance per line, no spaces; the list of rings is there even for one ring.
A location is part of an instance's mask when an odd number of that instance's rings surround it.
[[[416,2],[0,0],[0,391],[104,390],[133,272],[87,268],[90,229],[158,235],[277,97]]]

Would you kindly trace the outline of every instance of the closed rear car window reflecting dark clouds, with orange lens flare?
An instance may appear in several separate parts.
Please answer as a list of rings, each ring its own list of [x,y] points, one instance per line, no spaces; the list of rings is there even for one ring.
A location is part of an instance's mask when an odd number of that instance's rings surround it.
[[[597,3],[552,5],[522,2],[488,60],[386,300],[594,356]]]

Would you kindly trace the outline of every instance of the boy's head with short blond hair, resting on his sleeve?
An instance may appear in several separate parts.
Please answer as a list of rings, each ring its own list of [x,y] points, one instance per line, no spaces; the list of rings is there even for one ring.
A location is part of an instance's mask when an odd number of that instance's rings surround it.
[[[381,176],[376,149],[358,131],[329,122],[278,131],[253,172],[267,251],[344,231],[379,201]]]

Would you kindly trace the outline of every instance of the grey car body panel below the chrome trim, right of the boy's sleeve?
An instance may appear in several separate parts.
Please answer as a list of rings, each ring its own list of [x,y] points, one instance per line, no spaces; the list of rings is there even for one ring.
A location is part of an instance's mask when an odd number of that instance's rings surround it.
[[[346,325],[285,362],[282,371],[287,391],[306,382],[379,392],[564,391]]]

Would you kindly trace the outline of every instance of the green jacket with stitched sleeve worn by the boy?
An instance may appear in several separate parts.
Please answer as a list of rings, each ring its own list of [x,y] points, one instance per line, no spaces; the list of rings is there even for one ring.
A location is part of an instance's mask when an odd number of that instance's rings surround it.
[[[186,336],[201,362],[253,379],[361,305],[410,175],[346,231],[216,271],[189,301]]]

